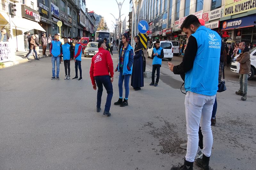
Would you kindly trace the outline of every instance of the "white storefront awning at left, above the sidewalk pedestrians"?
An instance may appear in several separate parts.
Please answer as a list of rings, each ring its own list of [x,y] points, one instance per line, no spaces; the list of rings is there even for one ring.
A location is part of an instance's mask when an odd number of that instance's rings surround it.
[[[31,21],[29,19],[25,19],[25,18],[12,18],[12,22],[14,24],[14,26],[16,27],[16,29],[18,30],[24,30],[24,31],[29,31],[29,30],[39,30],[39,31],[44,31],[44,28],[42,26],[40,26],[37,22]]]

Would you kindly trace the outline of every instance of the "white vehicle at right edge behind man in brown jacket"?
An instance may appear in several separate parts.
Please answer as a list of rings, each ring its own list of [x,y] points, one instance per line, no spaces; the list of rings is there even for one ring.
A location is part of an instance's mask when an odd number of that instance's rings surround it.
[[[253,76],[256,75],[256,47],[252,48],[249,51],[249,53],[250,53],[250,58],[251,58],[251,71],[248,76],[248,80],[251,80],[253,78]],[[239,54],[234,57],[234,59],[232,60],[232,63],[231,63],[231,67],[230,67],[230,70],[237,74],[239,74],[239,69],[240,69],[240,63],[238,63],[236,61],[236,58],[238,56],[239,56]]]

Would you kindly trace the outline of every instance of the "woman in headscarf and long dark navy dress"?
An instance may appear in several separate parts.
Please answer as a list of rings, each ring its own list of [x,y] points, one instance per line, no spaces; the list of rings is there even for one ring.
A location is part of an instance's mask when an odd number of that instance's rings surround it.
[[[144,86],[144,77],[143,77],[143,45],[140,42],[140,37],[138,35],[134,38],[135,41],[135,55],[133,59],[132,65],[132,78],[131,78],[131,86],[134,90],[140,90],[140,87]]]

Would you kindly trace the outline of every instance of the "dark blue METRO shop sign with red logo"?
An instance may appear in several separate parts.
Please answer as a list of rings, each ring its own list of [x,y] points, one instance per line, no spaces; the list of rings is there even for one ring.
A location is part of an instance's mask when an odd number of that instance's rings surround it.
[[[223,22],[222,30],[254,26],[255,15],[229,19]]]

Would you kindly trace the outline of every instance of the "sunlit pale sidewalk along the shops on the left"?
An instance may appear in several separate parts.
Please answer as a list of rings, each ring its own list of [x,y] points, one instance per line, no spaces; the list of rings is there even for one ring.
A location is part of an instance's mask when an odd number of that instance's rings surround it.
[[[39,55],[37,55],[39,58],[44,58],[43,54],[42,54],[42,51],[43,51],[42,49],[39,49]],[[0,66],[0,69],[28,62],[29,60],[25,58],[25,56],[27,54],[28,54],[28,51],[24,51],[24,52],[17,51],[17,52],[15,52],[15,59],[14,59],[14,61],[4,62],[4,65]],[[46,56],[50,56],[49,50],[46,50],[45,54],[46,54]],[[30,60],[34,60],[32,55],[30,56],[29,59]]]

